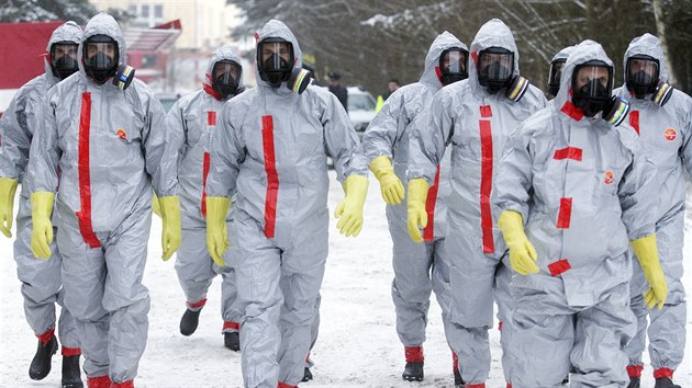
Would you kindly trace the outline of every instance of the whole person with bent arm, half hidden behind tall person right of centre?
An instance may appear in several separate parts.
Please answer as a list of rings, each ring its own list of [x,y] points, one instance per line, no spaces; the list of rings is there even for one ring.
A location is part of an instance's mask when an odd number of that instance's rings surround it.
[[[453,34],[444,32],[437,35],[425,57],[420,81],[392,93],[362,137],[370,170],[380,181],[382,198],[388,204],[387,219],[393,242],[392,298],[397,309],[397,333],[404,345],[406,360],[402,377],[409,381],[423,380],[423,342],[433,288],[444,311],[445,330],[454,329],[447,322],[451,296],[443,295],[449,292],[449,259],[445,251],[449,160],[447,158],[440,163],[440,171],[435,175],[436,184],[428,191],[426,213],[429,222],[424,230],[425,243],[415,243],[406,229],[404,202],[410,124],[428,109],[439,89],[468,78],[468,47]],[[456,356],[454,360],[457,360]],[[461,385],[456,363],[453,364],[456,383]]]

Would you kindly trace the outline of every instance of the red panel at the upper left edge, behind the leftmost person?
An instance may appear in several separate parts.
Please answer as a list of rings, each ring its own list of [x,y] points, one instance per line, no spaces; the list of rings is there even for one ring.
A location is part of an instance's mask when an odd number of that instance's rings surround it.
[[[63,23],[0,23],[0,89],[19,89],[44,72],[51,34]]]

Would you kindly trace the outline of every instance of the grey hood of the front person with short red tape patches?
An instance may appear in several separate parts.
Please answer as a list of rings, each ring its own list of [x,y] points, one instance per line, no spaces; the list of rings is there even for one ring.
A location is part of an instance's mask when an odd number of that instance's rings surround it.
[[[561,112],[562,117],[571,117],[580,121],[583,113],[572,103],[572,75],[577,66],[585,64],[590,60],[600,60],[607,66],[613,67],[613,61],[607,57],[603,46],[593,41],[583,41],[574,46],[573,52],[567,58],[565,67],[562,67],[562,77],[560,78],[560,91],[555,96],[554,109]],[[613,80],[611,80],[611,85]]]

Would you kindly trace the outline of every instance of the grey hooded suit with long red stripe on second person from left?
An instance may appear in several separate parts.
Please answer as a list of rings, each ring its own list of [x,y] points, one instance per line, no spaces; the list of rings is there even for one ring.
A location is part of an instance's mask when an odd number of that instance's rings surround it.
[[[92,35],[125,41],[115,20],[93,16]],[[63,254],[65,304],[77,319],[88,377],[132,380],[147,338],[149,294],[142,284],[152,220],[152,186],[176,194],[177,150],[164,109],[134,79],[126,90],[79,72],[48,92],[34,134],[25,183],[30,193],[59,192],[54,221]]]

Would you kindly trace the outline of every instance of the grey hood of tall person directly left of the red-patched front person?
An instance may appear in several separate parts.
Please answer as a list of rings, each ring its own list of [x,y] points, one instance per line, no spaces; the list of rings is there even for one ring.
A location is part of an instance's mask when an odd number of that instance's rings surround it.
[[[512,72],[513,77],[517,77],[520,75],[518,70],[518,49],[516,48],[516,43],[514,42],[514,35],[510,27],[507,27],[504,22],[500,19],[492,19],[485,22],[478,33],[476,37],[473,37],[473,42],[471,43],[471,60],[469,60],[469,84],[471,85],[471,90],[477,95],[487,95],[490,94],[485,88],[481,87],[478,82],[478,55],[480,52],[490,48],[490,47],[500,47],[507,49],[514,53],[514,71]]]

